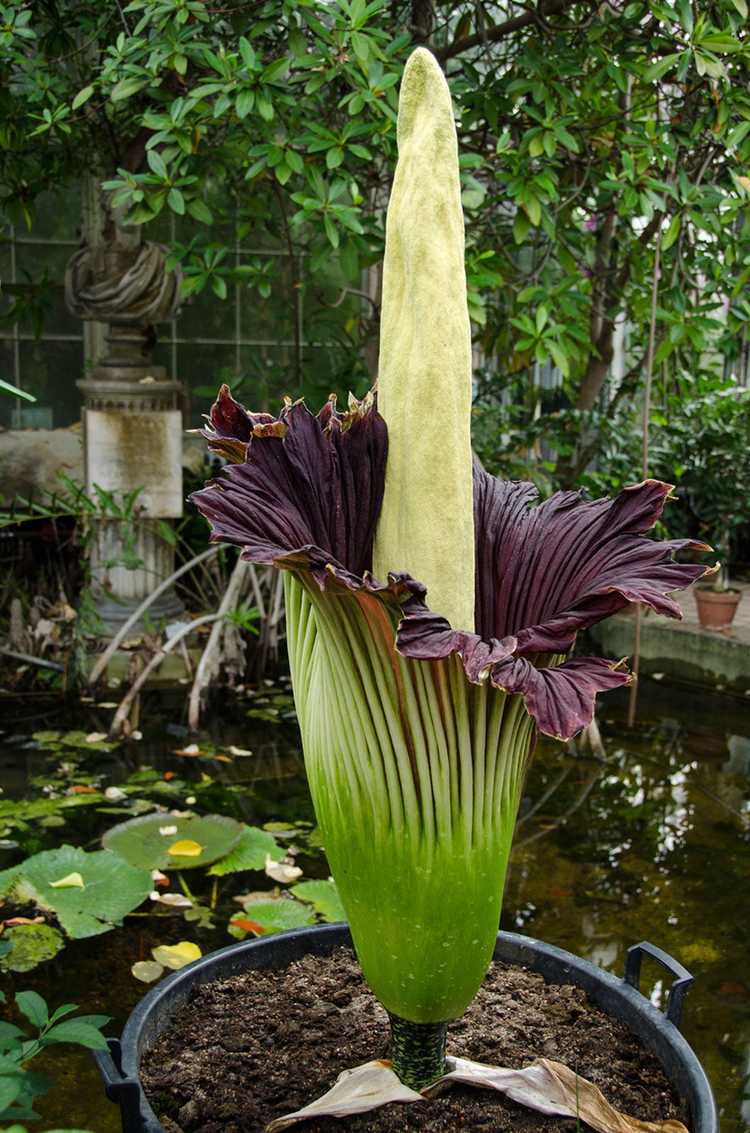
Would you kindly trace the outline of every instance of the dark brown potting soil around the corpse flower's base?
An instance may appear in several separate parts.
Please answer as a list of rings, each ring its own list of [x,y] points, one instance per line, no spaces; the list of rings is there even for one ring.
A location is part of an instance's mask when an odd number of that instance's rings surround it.
[[[146,1055],[142,1081],[168,1133],[259,1133],[329,1090],[342,1070],[387,1057],[383,1008],[349,949],[281,971],[197,988]],[[496,963],[449,1031],[449,1053],[520,1067],[544,1056],[595,1082],[642,1121],[684,1121],[656,1058],[571,986]],[[295,1127],[295,1126],[292,1126]],[[390,1105],[300,1133],[576,1133],[572,1118],[535,1114],[489,1090],[451,1087],[431,1101]],[[588,1128],[588,1126],[581,1126]]]

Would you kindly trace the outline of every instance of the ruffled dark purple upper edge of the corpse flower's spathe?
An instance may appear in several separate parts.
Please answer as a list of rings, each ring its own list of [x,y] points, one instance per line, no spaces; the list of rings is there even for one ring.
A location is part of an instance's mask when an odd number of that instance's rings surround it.
[[[705,545],[644,535],[670,485],[645,480],[598,501],[563,492],[531,506],[532,485],[497,480],[477,465],[477,632],[458,630],[428,608],[425,587],[409,574],[381,582],[369,572],[387,448],[372,395],[350,399],[344,414],[331,399],[317,417],[287,400],[273,418],[248,414],[223,387],[205,435],[236,461],[191,497],[213,542],[240,546],[249,562],[309,573],[323,591],[350,594],[373,624],[382,625],[387,604],[402,656],[458,655],[470,682],[521,695],[539,730],[561,739],[590,722],[597,692],[630,676],[600,658],[545,665],[545,656],[568,654],[581,629],[630,602],[681,616],[671,591],[710,569],[672,559]]]

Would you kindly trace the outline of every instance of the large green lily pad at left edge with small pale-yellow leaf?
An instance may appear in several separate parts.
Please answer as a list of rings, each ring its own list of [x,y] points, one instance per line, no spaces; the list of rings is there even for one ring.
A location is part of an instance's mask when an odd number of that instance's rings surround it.
[[[74,874],[80,874],[83,886],[53,886]],[[109,932],[151,891],[148,870],[128,864],[109,850],[86,853],[63,845],[34,854],[0,874],[0,896],[9,895],[18,904],[32,902],[54,912],[74,939]]]

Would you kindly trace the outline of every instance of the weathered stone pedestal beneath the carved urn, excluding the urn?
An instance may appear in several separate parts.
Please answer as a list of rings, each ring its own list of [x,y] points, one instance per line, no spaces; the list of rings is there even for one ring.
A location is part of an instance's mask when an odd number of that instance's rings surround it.
[[[180,384],[155,367],[118,366],[108,359],[78,387],[87,495],[101,501],[104,492],[112,501],[100,505],[94,520],[92,588],[101,620],[117,630],[174,570],[174,550],[162,533],[164,522],[182,514]],[[121,518],[125,499],[136,488],[142,491],[133,517]],[[170,588],[134,633],[182,612]]]

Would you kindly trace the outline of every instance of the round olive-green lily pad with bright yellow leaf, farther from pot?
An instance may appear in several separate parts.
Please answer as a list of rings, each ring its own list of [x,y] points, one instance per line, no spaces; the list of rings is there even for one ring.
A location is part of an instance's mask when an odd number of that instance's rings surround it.
[[[113,826],[102,838],[102,845],[142,869],[195,869],[225,858],[242,837],[244,829],[241,823],[224,815],[202,818],[144,815]],[[169,847],[177,842],[196,842],[202,846],[201,853],[172,855]]]

